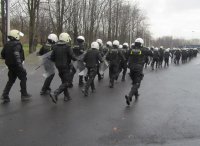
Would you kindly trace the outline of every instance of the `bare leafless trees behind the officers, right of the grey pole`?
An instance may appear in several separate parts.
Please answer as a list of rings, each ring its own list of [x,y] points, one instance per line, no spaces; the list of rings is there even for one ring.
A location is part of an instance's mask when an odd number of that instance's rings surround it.
[[[87,43],[97,38],[123,43],[136,37],[151,39],[143,11],[124,0],[11,0],[11,28],[28,36],[30,53],[51,32],[68,32],[73,43],[79,35]]]

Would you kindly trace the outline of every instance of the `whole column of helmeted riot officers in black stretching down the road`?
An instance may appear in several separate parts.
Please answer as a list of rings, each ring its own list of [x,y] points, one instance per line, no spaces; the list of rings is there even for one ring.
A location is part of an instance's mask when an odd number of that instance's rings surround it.
[[[23,66],[25,57],[20,37],[23,37],[23,33],[11,30],[8,35],[9,41],[1,52],[1,57],[9,70],[8,82],[2,94],[3,103],[10,102],[9,92],[17,78],[21,81],[21,100],[28,101],[31,98],[26,89],[27,73]],[[95,77],[97,76],[101,81],[107,68],[110,88],[114,88],[120,74],[122,74],[121,81],[124,82],[127,71],[130,70],[132,86],[130,92],[125,95],[126,103],[130,105],[133,97],[138,100],[138,90],[144,77],[144,69],[148,66],[152,70],[167,68],[170,60],[176,65],[179,65],[180,61],[184,64],[197,57],[197,53],[197,49],[188,48],[164,49],[162,46],[147,48],[142,38],[137,38],[130,47],[126,42],[120,45],[118,40],[108,41],[104,46],[101,39],[92,42],[88,47],[85,38],[78,36],[77,44],[72,47],[68,33],[61,33],[59,37],[56,34],[50,34],[46,44],[37,53],[42,58],[46,77],[40,95],[49,95],[52,101],[57,103],[59,95],[64,93],[64,101],[67,102],[72,99],[68,89],[73,87],[73,78],[76,73],[84,96],[88,96],[90,89],[91,92],[96,90]],[[50,86],[55,76],[55,69],[58,70],[62,83],[53,92]]]

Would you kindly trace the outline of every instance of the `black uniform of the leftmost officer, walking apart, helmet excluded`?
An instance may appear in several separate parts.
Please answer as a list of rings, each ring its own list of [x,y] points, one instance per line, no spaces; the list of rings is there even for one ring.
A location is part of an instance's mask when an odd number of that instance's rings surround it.
[[[27,93],[26,89],[27,73],[22,65],[25,60],[24,50],[20,41],[11,40],[5,44],[1,56],[5,59],[5,64],[8,66],[9,70],[8,82],[2,94],[4,102],[10,101],[9,92],[17,78],[20,80],[22,101],[29,99],[30,95]]]

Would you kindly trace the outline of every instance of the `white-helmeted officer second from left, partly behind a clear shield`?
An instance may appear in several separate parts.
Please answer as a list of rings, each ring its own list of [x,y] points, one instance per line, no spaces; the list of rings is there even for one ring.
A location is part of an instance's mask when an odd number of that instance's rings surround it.
[[[37,55],[42,56],[45,55],[47,53],[49,53],[50,51],[52,51],[52,46],[58,41],[58,37],[56,34],[50,34],[47,38],[47,42],[45,45],[42,46],[42,48],[40,49],[40,51],[38,52]],[[45,95],[45,94],[49,94],[51,92],[51,82],[55,76],[55,71],[54,71],[54,64],[52,63],[52,61],[50,60],[50,58],[48,58],[48,56],[46,58],[43,58],[43,64],[44,64],[44,69],[46,70],[46,72],[49,74],[43,84],[43,87],[40,91],[40,95]]]

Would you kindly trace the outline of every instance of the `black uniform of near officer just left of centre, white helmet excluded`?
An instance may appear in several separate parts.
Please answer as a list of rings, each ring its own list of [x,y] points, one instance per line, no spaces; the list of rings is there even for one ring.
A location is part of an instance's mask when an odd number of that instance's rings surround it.
[[[103,62],[100,52],[97,49],[90,49],[85,54],[83,61],[88,69],[88,79],[83,93],[88,96],[88,90],[91,87],[92,92],[95,91],[94,79],[97,75],[99,62]]]

